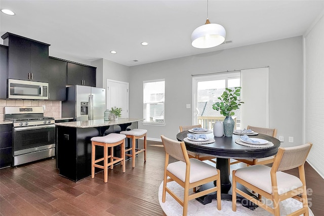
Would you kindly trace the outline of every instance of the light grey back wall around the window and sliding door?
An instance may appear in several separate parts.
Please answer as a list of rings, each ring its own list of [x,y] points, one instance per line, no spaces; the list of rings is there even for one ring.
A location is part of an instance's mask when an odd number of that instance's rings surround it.
[[[269,66],[269,127],[283,136],[282,146],[300,145],[303,114],[302,36],[130,67],[130,117],[143,116],[143,80],[166,79],[166,126],[147,126],[148,138],[176,138],[190,125],[191,74]],[[256,80],[251,80],[251,84]],[[244,105],[243,105],[244,106]],[[191,105],[192,107],[192,105]],[[215,111],[216,112],[216,111]],[[256,116],[257,118],[257,116]],[[288,143],[294,137],[294,143]]]

